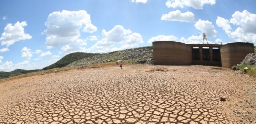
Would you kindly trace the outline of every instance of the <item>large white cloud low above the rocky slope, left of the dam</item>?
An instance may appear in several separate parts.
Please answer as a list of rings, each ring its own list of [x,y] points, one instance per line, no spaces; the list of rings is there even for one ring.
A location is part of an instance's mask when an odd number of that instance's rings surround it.
[[[110,31],[102,30],[102,39],[97,41],[89,51],[104,53],[113,50],[121,50],[127,48],[138,47],[138,44],[144,43],[142,35],[132,32],[130,29],[125,29],[122,25],[116,25]],[[116,47],[120,44],[121,47]]]

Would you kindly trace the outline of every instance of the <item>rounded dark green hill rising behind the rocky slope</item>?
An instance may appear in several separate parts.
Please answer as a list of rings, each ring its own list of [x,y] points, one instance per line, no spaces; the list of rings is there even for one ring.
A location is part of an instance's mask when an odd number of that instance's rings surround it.
[[[70,53],[70,54],[67,54],[66,56],[64,56],[63,58],[61,58],[60,60],[58,60],[57,62],[55,62],[54,64],[43,68],[42,70],[48,70],[48,69],[52,69],[52,68],[61,68],[61,67],[64,67],[76,60],[80,60],[82,58],[87,58],[87,57],[91,57],[91,56],[95,56],[95,55],[98,55],[98,54],[84,53],[84,52]]]

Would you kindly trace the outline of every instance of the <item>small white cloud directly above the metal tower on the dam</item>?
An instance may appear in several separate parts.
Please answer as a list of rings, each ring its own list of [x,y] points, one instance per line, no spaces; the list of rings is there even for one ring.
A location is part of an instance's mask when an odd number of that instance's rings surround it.
[[[214,29],[214,25],[212,25],[212,22],[208,20],[201,20],[199,19],[195,23],[196,29],[201,31],[202,33],[206,34],[206,37],[216,37],[217,36],[217,31]]]

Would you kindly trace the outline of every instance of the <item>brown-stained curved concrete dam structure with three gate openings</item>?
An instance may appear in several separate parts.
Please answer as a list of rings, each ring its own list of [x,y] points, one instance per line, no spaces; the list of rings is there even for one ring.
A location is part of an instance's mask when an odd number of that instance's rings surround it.
[[[207,65],[230,68],[254,52],[252,43],[184,44],[174,41],[153,42],[155,65]]]

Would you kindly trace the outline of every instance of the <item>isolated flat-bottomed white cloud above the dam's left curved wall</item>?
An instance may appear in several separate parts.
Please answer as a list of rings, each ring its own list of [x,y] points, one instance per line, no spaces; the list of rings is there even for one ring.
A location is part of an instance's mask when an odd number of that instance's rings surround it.
[[[185,21],[185,22],[194,22],[194,14],[192,12],[181,13],[180,10],[171,11],[168,14],[163,14],[161,20],[167,21]]]

